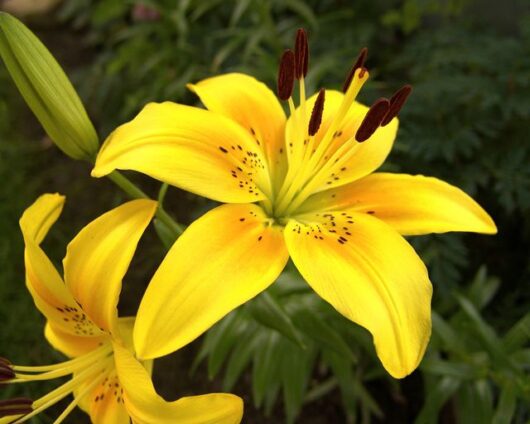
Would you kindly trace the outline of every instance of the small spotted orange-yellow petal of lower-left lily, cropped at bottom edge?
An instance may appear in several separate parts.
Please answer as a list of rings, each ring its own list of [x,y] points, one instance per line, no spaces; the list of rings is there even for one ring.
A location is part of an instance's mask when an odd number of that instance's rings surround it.
[[[89,394],[89,414],[92,424],[130,424],[123,387],[116,369],[111,367],[105,380]]]

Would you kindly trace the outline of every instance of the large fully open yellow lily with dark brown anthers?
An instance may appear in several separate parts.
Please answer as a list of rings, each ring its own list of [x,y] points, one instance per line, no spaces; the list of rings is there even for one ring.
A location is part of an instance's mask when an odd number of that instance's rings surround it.
[[[95,177],[135,170],[226,203],[189,226],[153,277],[134,331],[140,357],[189,343],[272,284],[290,256],[317,294],[371,332],[387,371],[404,377],[430,337],[432,287],[402,236],[496,232],[456,187],[374,173],[392,148],[409,86],[370,108],[356,102],[369,76],[363,49],[343,93],[306,99],[307,51],[301,30],[281,60],[288,119],[263,83],[230,73],[189,86],[207,110],[150,103],[102,146]]]

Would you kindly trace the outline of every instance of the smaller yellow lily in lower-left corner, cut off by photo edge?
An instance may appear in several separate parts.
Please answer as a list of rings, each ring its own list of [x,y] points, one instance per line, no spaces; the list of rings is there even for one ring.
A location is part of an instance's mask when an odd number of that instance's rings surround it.
[[[40,247],[59,217],[64,197],[45,194],[20,220],[26,284],[47,318],[45,336],[70,360],[48,366],[17,366],[0,358],[0,382],[42,381],[71,375],[36,401],[0,401],[0,423],[22,423],[69,394],[74,400],[55,423],[79,406],[93,423],[239,423],[242,401],[230,394],[183,397],[166,402],[150,378],[152,361],[139,362],[132,346],[135,319],[118,318],[122,279],[156,202],[135,200],[83,228],[68,245],[64,281]]]

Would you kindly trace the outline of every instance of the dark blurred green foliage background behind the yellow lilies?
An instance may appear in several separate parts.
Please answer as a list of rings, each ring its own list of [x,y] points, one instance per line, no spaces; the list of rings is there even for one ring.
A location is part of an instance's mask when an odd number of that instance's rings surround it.
[[[289,268],[266,294],[157,362],[161,393],[232,390],[245,398],[252,423],[530,420],[530,11],[524,0],[501,3],[69,0],[29,21],[66,67],[102,139],[148,101],[196,104],[185,88],[190,81],[240,71],[274,86],[278,57],[298,27],[310,36],[309,91],[340,87],[367,46],[373,77],[361,100],[414,86],[384,168],[456,184],[499,228],[494,237],[412,239],[434,285],[433,337],[420,369],[403,381],[386,375],[363,329]],[[135,18],[137,4],[159,17]],[[68,196],[46,246],[59,264],[75,232],[124,197],[46,140],[3,67],[0,155],[0,355],[60,360],[25,291],[18,217],[42,192]],[[156,196],[156,184],[131,177]],[[166,199],[183,223],[213,206],[176,189]],[[122,311],[134,311],[163,255],[159,245],[153,236],[141,246]],[[43,390],[9,388],[2,397]]]

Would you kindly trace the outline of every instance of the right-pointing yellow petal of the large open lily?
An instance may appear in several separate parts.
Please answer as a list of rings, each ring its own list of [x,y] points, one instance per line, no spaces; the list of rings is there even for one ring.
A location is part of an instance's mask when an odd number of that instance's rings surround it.
[[[303,209],[368,212],[403,235],[497,232],[491,217],[466,193],[423,175],[372,174],[313,196]]]

